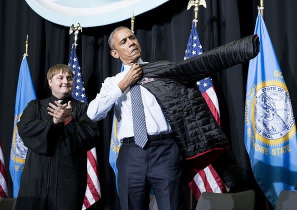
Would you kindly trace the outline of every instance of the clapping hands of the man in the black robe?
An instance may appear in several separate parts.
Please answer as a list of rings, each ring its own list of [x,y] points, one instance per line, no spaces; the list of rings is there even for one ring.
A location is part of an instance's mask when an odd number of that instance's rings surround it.
[[[72,106],[71,106],[71,101],[68,101],[68,103],[65,104],[60,104],[57,101],[54,101],[54,103],[57,105],[55,106],[52,103],[49,103],[48,105],[50,107],[47,107],[48,114],[53,116],[53,123],[65,123],[71,118],[72,114]]]

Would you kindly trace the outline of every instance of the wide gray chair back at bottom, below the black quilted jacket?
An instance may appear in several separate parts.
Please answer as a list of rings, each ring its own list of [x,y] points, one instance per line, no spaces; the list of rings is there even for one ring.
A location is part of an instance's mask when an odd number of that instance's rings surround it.
[[[253,190],[234,193],[202,192],[196,206],[196,210],[253,210],[253,208]]]

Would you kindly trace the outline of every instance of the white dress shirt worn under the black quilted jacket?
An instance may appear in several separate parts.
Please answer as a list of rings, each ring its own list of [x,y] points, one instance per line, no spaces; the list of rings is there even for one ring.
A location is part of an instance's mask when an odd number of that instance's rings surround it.
[[[141,58],[137,63],[144,63]],[[130,65],[124,65],[124,70],[115,76],[107,77],[102,83],[100,92],[96,95],[87,108],[87,116],[92,121],[104,118],[107,112],[114,107],[114,114],[118,120],[117,140],[134,136],[131,110],[130,87],[123,93],[118,87],[118,83],[124,75],[130,70]],[[148,135],[168,133],[171,127],[168,124],[161,107],[155,97],[144,87],[140,85],[141,98],[144,108],[145,124]]]

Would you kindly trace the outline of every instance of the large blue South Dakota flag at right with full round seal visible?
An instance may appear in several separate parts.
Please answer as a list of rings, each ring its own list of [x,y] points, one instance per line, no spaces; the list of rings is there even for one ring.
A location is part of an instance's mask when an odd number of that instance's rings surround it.
[[[254,30],[259,54],[249,61],[244,141],[256,181],[275,207],[279,192],[297,179],[297,139],[292,105],[283,75],[259,13]]]

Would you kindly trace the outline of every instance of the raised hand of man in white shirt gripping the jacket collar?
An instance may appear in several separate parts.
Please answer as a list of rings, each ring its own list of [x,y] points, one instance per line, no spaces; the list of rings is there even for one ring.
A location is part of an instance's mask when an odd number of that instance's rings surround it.
[[[134,84],[142,75],[142,68],[139,64],[133,65],[131,69],[126,73],[123,79],[117,84],[121,89],[121,92],[124,92],[128,86]]]

